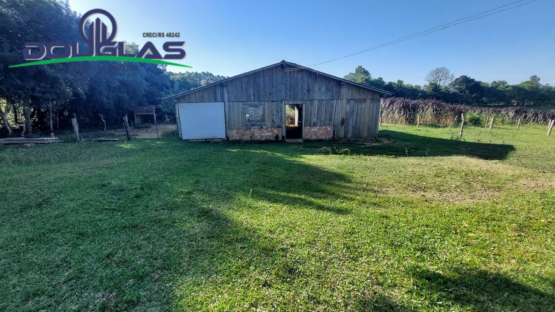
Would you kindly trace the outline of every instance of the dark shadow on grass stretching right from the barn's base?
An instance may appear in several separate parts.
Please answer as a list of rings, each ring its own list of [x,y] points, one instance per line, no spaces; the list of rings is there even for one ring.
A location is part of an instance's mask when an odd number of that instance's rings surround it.
[[[351,154],[367,156],[470,156],[485,160],[504,160],[514,151],[508,144],[469,142],[381,130],[376,142],[341,141],[327,145],[348,148]]]

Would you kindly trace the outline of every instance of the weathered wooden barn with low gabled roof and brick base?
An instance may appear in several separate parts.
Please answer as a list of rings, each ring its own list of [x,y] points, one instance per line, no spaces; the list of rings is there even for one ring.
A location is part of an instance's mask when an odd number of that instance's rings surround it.
[[[376,137],[387,95],[283,60],[165,99],[184,140],[329,140]]]

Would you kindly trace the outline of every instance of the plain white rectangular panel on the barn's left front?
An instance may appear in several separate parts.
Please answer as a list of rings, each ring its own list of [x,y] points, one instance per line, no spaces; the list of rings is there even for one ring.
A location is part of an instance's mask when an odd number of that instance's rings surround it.
[[[224,103],[179,103],[181,137],[225,139]]]

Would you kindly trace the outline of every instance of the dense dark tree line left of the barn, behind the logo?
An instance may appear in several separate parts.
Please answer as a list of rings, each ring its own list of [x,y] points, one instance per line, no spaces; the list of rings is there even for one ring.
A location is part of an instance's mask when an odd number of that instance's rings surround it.
[[[79,62],[8,68],[23,63],[26,42],[78,42],[80,15],[67,2],[0,0],[0,116],[8,135],[32,134],[70,125],[73,113],[83,125],[122,122],[130,109],[158,105],[160,98],[223,79],[211,73],[172,73],[164,66]],[[88,29],[88,28],[87,28]],[[128,43],[127,53],[138,45]],[[138,64],[138,65],[135,65]],[[173,108],[168,112],[173,113]],[[7,132],[7,133],[6,133]]]

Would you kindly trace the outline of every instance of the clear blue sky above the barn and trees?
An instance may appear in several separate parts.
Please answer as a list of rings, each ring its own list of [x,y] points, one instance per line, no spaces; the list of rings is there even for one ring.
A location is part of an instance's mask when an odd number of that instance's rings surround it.
[[[117,40],[142,45],[148,41],[143,32],[179,32],[188,54],[180,63],[194,71],[231,76],[282,59],[301,65],[323,62],[514,1],[70,0],[69,4],[82,14],[93,8],[112,13],[119,28]],[[487,82],[519,83],[538,75],[542,83],[555,85],[553,12],[555,1],[538,0],[316,69],[344,76],[362,65],[374,78],[423,85],[429,70],[446,66],[456,76]],[[161,48],[168,38],[150,40]]]

